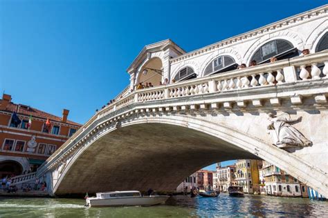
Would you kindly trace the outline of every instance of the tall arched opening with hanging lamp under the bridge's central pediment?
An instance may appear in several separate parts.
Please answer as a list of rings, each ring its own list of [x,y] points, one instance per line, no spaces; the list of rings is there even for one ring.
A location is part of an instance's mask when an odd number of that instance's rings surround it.
[[[139,83],[142,83],[142,85],[145,86],[144,88],[149,88],[150,86],[159,86],[160,82],[162,81],[162,66],[163,63],[160,58],[154,57],[150,59],[140,69],[139,76],[135,85],[138,86]]]

